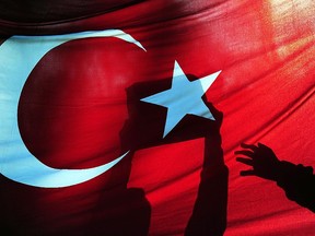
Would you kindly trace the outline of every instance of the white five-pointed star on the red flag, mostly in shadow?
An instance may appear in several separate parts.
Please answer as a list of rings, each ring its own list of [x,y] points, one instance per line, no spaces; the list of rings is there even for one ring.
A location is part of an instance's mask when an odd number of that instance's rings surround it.
[[[220,72],[218,71],[190,82],[177,61],[175,61],[172,87],[141,99],[167,108],[163,138],[188,114],[214,120],[214,117],[201,97]]]

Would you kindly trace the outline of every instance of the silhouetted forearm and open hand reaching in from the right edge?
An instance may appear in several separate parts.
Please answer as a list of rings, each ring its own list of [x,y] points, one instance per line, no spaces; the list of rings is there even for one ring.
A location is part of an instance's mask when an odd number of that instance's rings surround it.
[[[301,164],[294,165],[285,161],[279,161],[273,151],[261,144],[241,144],[243,150],[235,154],[237,162],[252,166],[242,170],[241,176],[258,176],[273,180],[281,187],[288,199],[315,212],[315,176],[312,167]]]

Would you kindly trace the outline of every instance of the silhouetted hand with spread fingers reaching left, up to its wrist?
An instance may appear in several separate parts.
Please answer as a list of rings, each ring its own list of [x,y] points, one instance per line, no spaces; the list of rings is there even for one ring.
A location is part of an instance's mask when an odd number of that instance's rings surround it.
[[[252,169],[242,170],[241,176],[258,176],[261,178],[277,180],[279,172],[280,161],[273,153],[273,151],[261,144],[252,145],[242,143],[241,146],[244,150],[236,151],[236,155],[243,155],[245,157],[236,157],[237,162],[252,166]]]

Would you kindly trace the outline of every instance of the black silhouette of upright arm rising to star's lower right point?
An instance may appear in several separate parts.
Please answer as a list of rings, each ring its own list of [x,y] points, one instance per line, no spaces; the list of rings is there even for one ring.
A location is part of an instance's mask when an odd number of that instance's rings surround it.
[[[221,236],[226,228],[229,169],[224,165],[220,126],[222,113],[211,108],[215,121],[207,129],[198,196],[185,236]]]

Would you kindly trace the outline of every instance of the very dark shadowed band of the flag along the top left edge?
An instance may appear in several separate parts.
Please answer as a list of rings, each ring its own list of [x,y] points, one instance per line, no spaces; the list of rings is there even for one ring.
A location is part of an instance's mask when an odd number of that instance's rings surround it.
[[[47,25],[56,24],[56,22],[78,21],[121,10],[141,2],[143,0],[107,1],[106,4],[103,1],[84,0],[69,0],[67,2],[56,0],[46,3],[40,0],[33,0],[32,2],[2,0],[0,1],[0,9],[3,10],[0,12],[0,25],[5,25],[5,23],[7,27],[30,25],[35,30],[38,23]],[[3,27],[5,28],[5,26]]]

